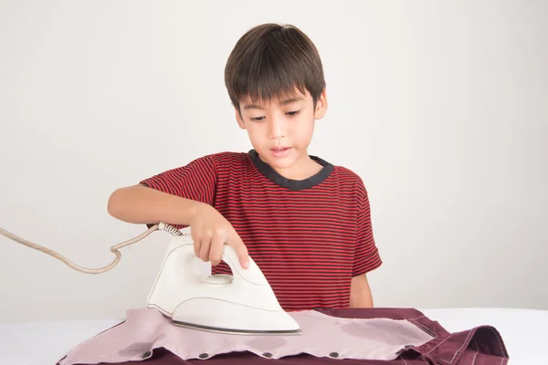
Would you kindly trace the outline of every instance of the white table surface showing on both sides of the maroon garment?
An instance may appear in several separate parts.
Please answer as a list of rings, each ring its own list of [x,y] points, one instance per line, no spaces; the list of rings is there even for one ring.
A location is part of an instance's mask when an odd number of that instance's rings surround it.
[[[546,361],[543,349],[548,340],[548,335],[545,333],[546,328],[548,328],[548,310],[511,308],[419,310],[427,318],[437,321],[449,332],[468,330],[481,325],[493,326],[501,334],[504,346],[508,350],[510,355],[509,364],[542,364]],[[121,318],[105,318],[0,323],[0,351],[2,353],[0,355],[0,364],[55,365],[57,360],[62,358],[69,349],[100,331],[119,324],[121,320]],[[266,361],[275,365],[278,360]],[[148,363],[149,361],[145,361],[142,364]],[[160,364],[161,362],[154,361],[152,363]],[[293,365],[299,365],[300,363],[308,365],[315,362],[313,360],[299,362],[294,359],[290,363]],[[351,363],[357,365],[360,362],[344,361],[344,364]],[[371,363],[384,365],[386,362],[375,361]],[[413,361],[391,363],[414,364]]]

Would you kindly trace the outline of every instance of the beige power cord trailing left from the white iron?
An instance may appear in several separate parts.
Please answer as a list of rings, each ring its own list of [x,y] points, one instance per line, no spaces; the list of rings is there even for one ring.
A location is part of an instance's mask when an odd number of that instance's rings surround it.
[[[82,273],[101,274],[101,273],[104,273],[106,271],[111,270],[112,268],[114,268],[114,266],[118,265],[118,263],[120,262],[120,259],[121,259],[121,252],[119,250],[122,247],[125,247],[127,245],[132,245],[136,242],[139,242],[143,238],[145,238],[146,236],[148,236],[148,235],[152,234],[154,231],[158,231],[158,230],[169,232],[171,235],[183,235],[183,233],[181,233],[181,231],[179,231],[173,225],[165,224],[163,222],[160,222],[159,224],[154,224],[149,229],[147,229],[145,232],[143,232],[141,235],[138,235],[138,236],[136,236],[132,239],[129,239],[127,241],[121,242],[118,245],[111,246],[111,252],[112,252],[112,254],[116,255],[116,258],[114,258],[114,260],[111,262],[110,265],[103,266],[103,267],[100,267],[100,268],[87,268],[87,267],[78,266],[78,265],[70,262],[70,260],[68,260],[68,258],[64,257],[63,255],[59,255],[57,252],[55,252],[53,250],[50,250],[49,248],[44,247],[42,245],[37,245],[35,243],[27,241],[26,239],[18,237],[14,234],[11,234],[11,233],[7,232],[5,229],[2,229],[2,228],[0,228],[0,235],[5,235],[5,237],[7,237],[7,238],[9,238],[13,241],[16,241],[17,243],[19,243],[21,245],[26,245],[27,247],[34,248],[35,250],[43,252],[44,254],[51,255],[51,256],[57,258],[58,260],[64,262],[68,266],[72,267],[73,269],[75,269],[77,271],[80,271]]]

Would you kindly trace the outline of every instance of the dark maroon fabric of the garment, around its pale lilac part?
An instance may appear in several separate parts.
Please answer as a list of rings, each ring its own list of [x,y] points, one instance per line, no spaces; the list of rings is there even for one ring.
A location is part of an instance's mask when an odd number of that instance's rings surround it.
[[[338,360],[298,355],[265,359],[248,352],[218,355],[208,360],[182,360],[168,350],[156,349],[153,357],[137,363],[147,365],[505,365],[509,354],[496,328],[479,326],[449,333],[437,321],[414,308],[319,308],[323,314],[339,318],[406,319],[434,337],[422,346],[401,349],[395,360]],[[118,365],[134,365],[124,362]],[[85,365],[85,364],[81,364]],[[104,364],[107,365],[107,364]]]

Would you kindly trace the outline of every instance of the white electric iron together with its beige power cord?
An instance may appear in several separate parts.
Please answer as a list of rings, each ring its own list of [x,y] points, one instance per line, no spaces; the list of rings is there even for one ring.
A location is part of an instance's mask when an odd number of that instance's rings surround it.
[[[142,235],[111,247],[116,258],[108,266],[90,269],[77,266],[67,258],[41,245],[26,241],[0,228],[0,235],[27,247],[52,255],[73,269],[100,274],[118,265],[119,249],[132,245],[155,230],[173,235],[153,288],[147,308],[171,318],[175,326],[242,335],[300,335],[300,326],[279,305],[266,277],[249,257],[249,267],[239,265],[236,251],[224,245],[222,260],[232,275],[212,275],[211,263],[195,256],[194,242],[169,224],[155,224]]]

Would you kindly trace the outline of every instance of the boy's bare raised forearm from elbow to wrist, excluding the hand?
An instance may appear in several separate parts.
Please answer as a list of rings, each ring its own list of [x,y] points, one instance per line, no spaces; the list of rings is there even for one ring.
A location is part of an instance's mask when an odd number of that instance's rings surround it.
[[[114,218],[127,223],[189,224],[202,204],[143,185],[135,185],[112,193],[107,210]]]

